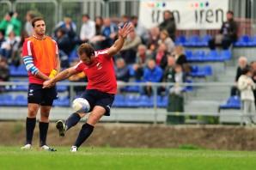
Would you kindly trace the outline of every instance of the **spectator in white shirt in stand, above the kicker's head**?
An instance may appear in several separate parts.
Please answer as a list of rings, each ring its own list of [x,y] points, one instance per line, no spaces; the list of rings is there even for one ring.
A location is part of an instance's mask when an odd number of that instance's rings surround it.
[[[95,36],[95,22],[90,20],[88,14],[82,15],[82,27],[80,31],[80,39],[82,42],[88,42]]]

